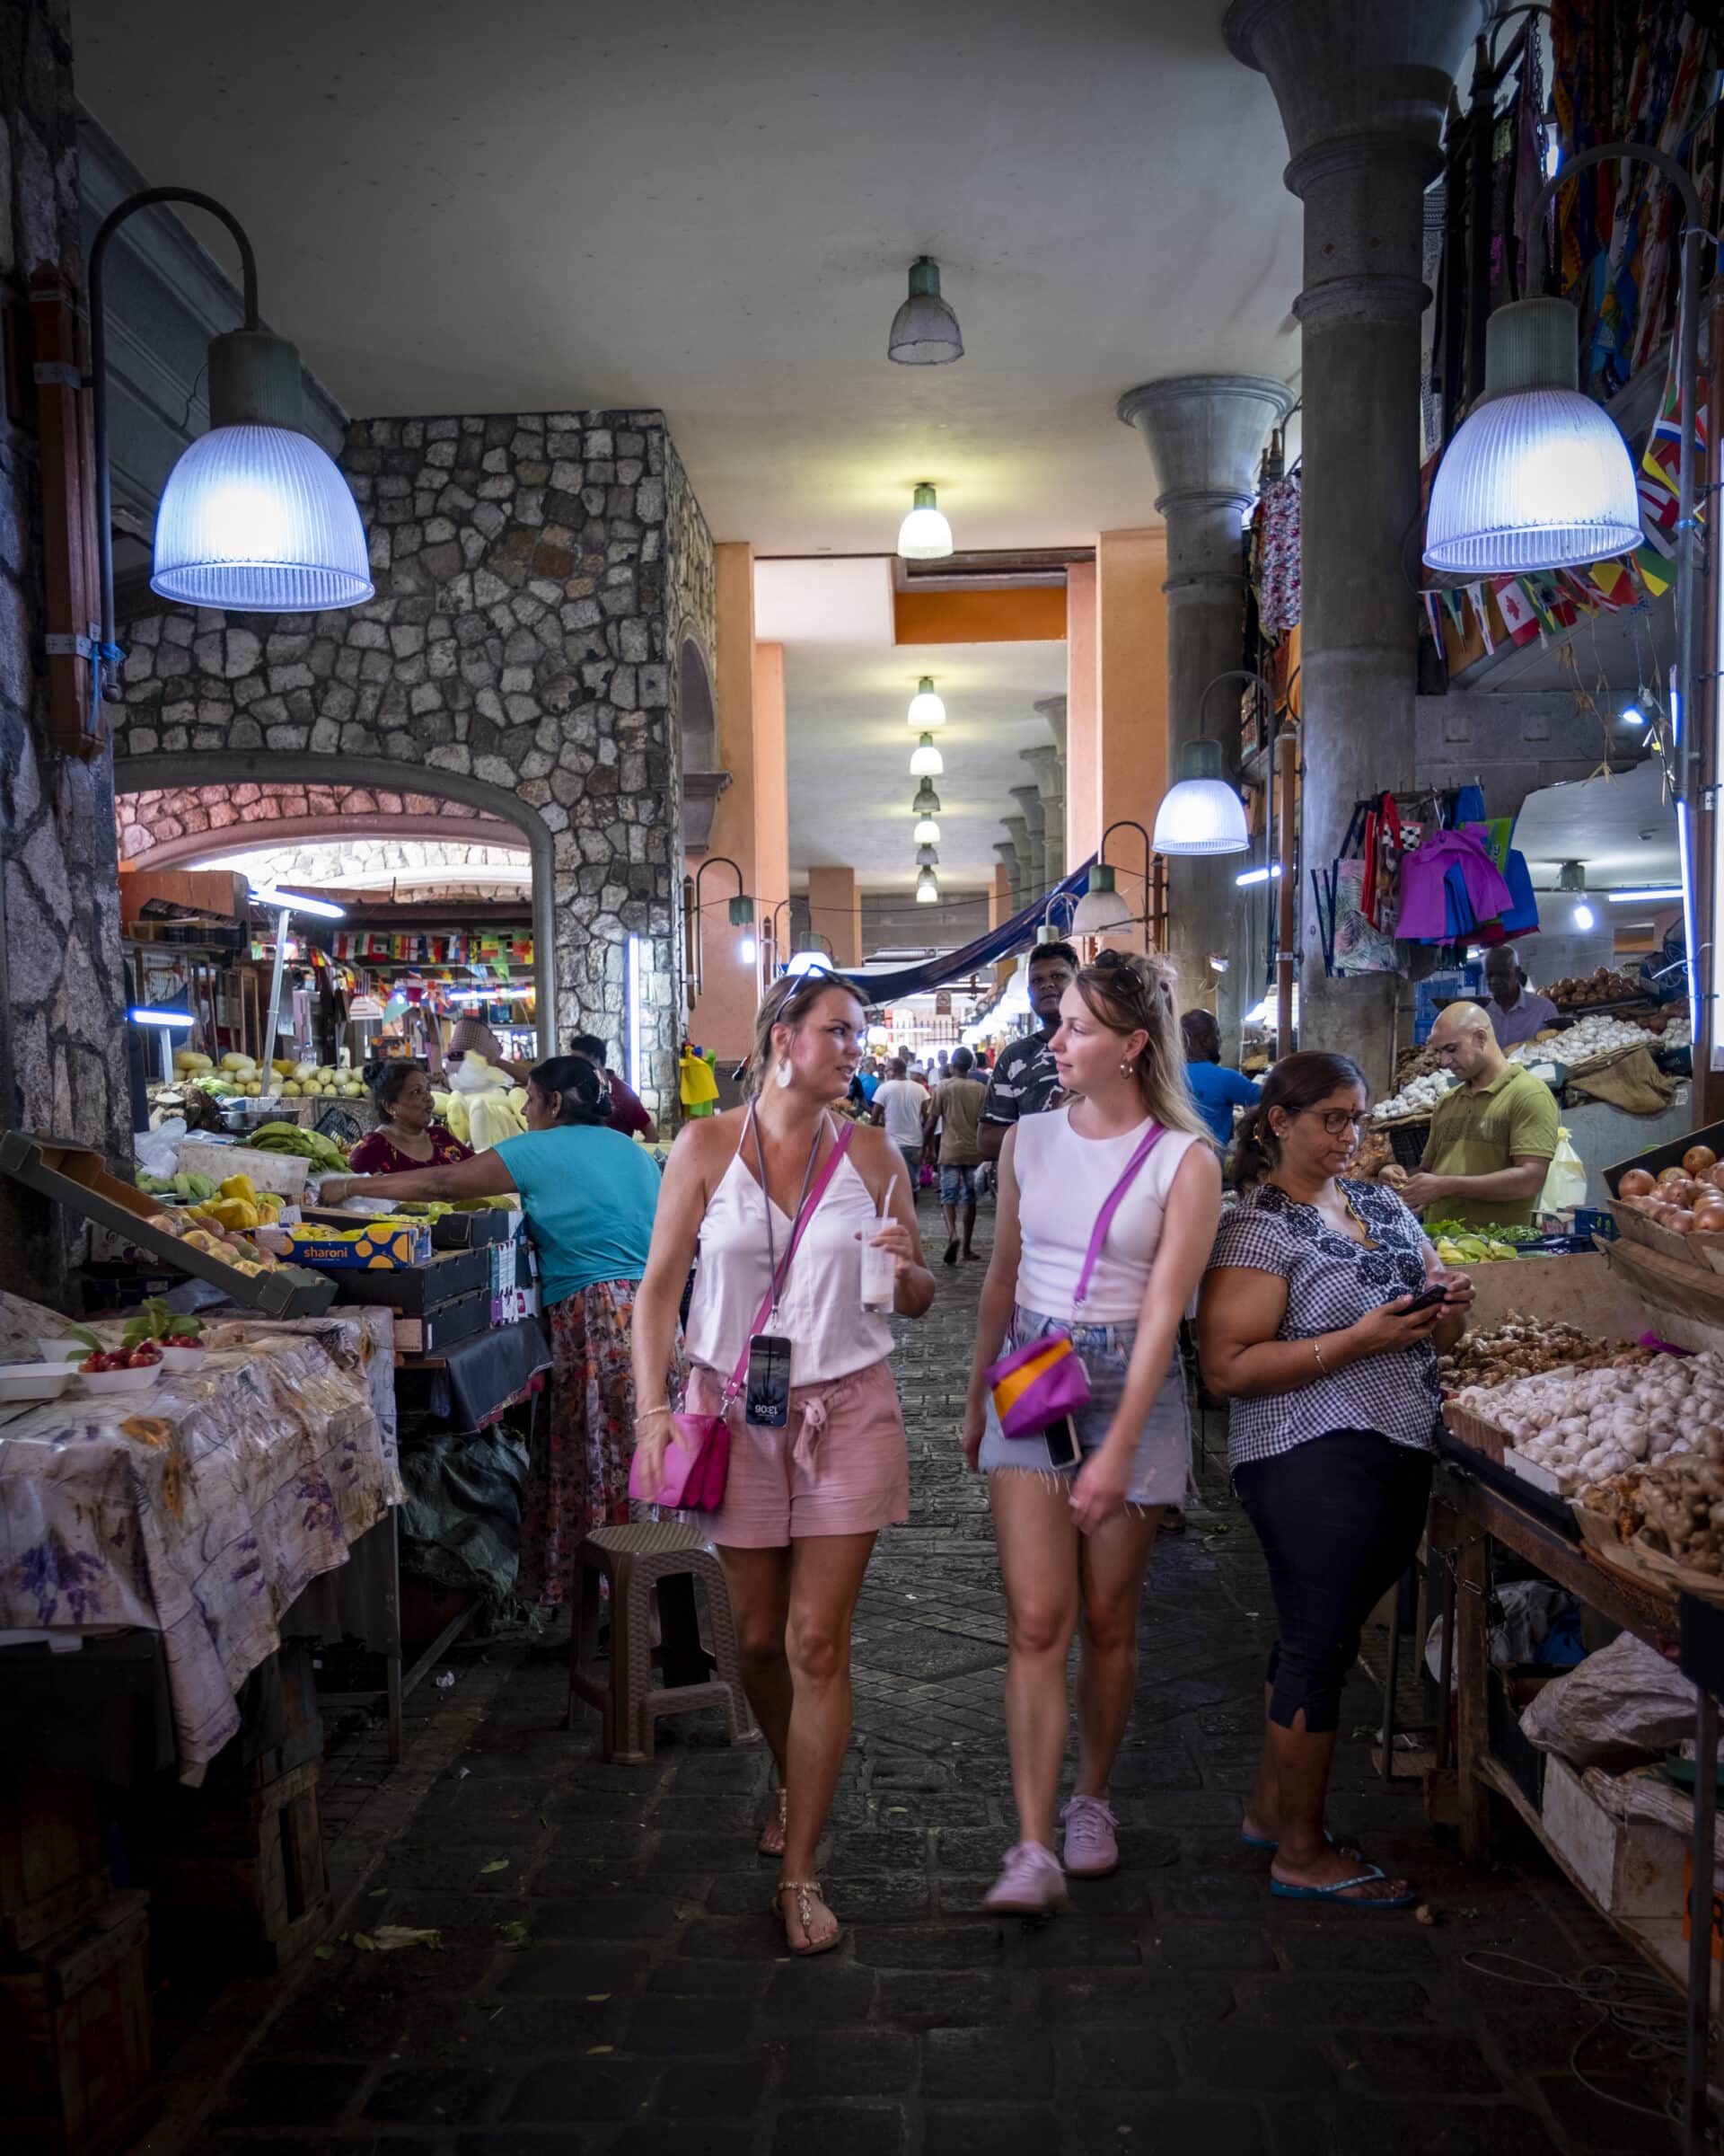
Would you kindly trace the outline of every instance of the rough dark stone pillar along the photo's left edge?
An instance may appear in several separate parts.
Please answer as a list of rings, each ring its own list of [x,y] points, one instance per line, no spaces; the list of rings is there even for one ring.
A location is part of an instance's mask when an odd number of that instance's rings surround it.
[[[6,185],[9,177],[9,185]],[[0,6],[0,289],[30,382],[26,280],[82,276],[67,0]],[[4,399],[0,399],[0,410]],[[0,1125],[129,1153],[114,793],[47,740],[37,438],[0,418]],[[0,1287],[67,1302],[84,1235],[0,1181]]]

